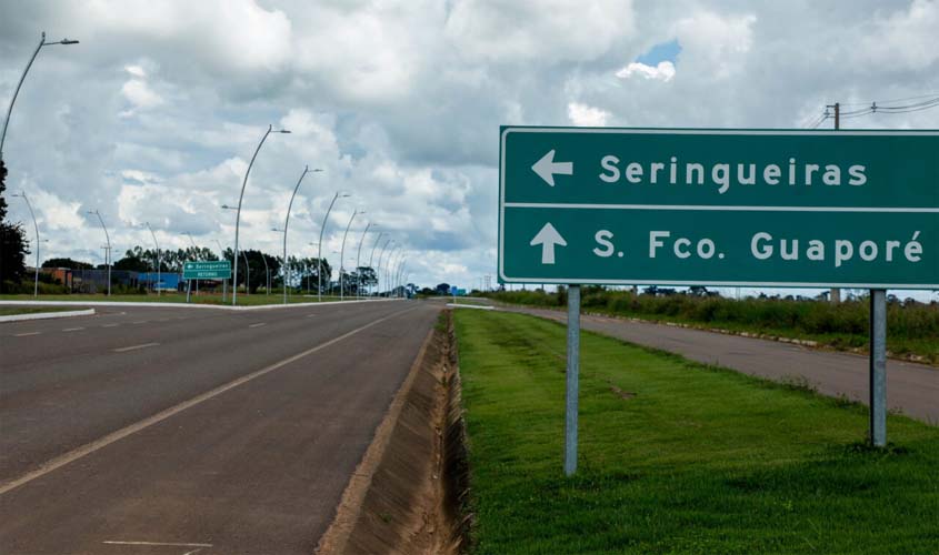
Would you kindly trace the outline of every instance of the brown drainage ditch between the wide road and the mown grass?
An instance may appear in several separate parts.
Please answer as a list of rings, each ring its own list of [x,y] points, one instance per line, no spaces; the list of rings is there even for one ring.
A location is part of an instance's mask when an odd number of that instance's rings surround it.
[[[469,517],[462,516],[467,467],[459,380],[447,311],[347,486],[318,554],[460,552]]]

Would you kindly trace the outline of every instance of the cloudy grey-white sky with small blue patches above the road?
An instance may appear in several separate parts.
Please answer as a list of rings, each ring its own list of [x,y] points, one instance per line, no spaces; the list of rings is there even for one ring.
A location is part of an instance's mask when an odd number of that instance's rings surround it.
[[[293,254],[314,254],[341,190],[330,259],[359,209],[350,244],[374,222],[411,281],[473,286],[495,282],[500,124],[807,127],[835,101],[939,91],[937,29],[939,0],[0,0],[3,108],[41,31],[81,41],[27,78],[8,190],[49,256],[101,262],[94,209],[116,258],[150,243],[143,222],[161,246],[217,249],[234,236],[220,205],[284,127],[252,170],[243,248],[280,252],[271,228],[309,164]],[[843,127],[937,129],[939,110]]]

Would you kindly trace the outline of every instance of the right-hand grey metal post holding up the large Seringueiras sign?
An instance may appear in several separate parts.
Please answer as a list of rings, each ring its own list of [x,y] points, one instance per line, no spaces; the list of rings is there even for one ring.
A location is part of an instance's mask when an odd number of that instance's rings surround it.
[[[870,444],[887,445],[887,291],[870,290]]]

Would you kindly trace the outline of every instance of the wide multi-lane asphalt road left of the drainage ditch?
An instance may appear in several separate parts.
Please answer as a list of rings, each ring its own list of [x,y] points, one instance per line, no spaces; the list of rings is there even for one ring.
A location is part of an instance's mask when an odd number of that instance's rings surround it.
[[[0,324],[0,553],[312,553],[439,310]]]

